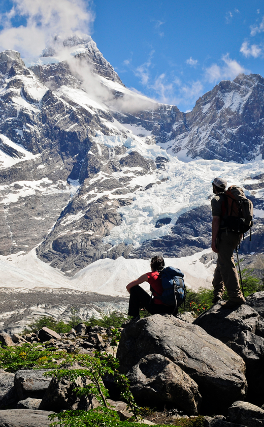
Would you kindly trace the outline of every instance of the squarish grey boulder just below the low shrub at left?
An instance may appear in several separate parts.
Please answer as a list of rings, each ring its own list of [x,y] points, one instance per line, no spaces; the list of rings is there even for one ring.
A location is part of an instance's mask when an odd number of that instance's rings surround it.
[[[15,373],[14,386],[19,400],[27,398],[42,399],[51,381],[50,377],[44,377],[48,369],[22,370]]]

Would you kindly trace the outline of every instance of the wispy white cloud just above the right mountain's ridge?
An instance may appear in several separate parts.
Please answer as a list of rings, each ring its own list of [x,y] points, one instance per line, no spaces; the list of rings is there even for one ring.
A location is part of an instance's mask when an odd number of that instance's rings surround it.
[[[238,74],[246,72],[245,68],[236,59],[231,59],[228,53],[222,56],[222,61],[224,65],[212,64],[211,67],[206,69],[205,77],[210,83],[215,83],[222,79],[233,80]]]

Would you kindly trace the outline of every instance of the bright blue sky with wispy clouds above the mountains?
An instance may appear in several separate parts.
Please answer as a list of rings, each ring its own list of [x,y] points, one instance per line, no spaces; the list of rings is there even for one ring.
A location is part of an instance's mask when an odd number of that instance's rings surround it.
[[[181,111],[192,109],[222,79],[240,72],[264,76],[264,3],[259,0],[15,0],[1,1],[0,12],[1,48],[12,45],[25,56],[31,39],[38,40],[30,36],[32,28],[49,34],[78,28],[91,34],[126,86]],[[38,13],[44,17],[36,18]],[[21,46],[12,28],[20,25],[26,34]]]

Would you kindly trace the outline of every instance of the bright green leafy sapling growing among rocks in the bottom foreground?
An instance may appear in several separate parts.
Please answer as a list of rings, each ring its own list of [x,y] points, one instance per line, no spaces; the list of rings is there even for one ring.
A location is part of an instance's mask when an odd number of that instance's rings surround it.
[[[52,372],[47,372],[46,376],[55,376],[58,379],[69,378],[71,381],[78,377],[90,380],[84,387],[77,387],[77,395],[93,394],[102,406],[90,409],[88,411],[70,410],[58,414],[50,414],[49,418],[54,420],[51,426],[56,427],[139,427],[141,424],[138,417],[141,411],[134,400],[133,394],[129,390],[129,381],[125,375],[119,373],[119,362],[110,354],[101,354],[95,352],[94,357],[86,354],[69,355],[64,363],[78,363],[79,369],[64,369],[63,365]],[[130,420],[120,421],[119,415],[107,402],[109,396],[108,389],[103,383],[103,377],[106,374],[113,376],[116,384],[121,390],[121,399],[127,402],[127,409],[134,415]],[[83,381],[85,384],[85,381]],[[197,417],[191,420],[179,420],[179,426],[184,427],[202,427],[203,417]],[[187,421],[189,421],[187,423]],[[162,427],[162,424],[158,424]]]

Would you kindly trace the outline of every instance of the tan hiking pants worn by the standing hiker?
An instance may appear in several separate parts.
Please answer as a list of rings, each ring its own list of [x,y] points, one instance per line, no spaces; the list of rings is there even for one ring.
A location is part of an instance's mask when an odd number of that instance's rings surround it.
[[[238,272],[234,262],[234,250],[239,244],[239,234],[233,231],[226,231],[217,237],[216,245],[218,249],[217,265],[214,272],[213,287],[214,296],[222,296],[224,287],[227,290],[229,299],[234,302],[244,300],[240,290]]]

